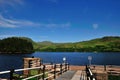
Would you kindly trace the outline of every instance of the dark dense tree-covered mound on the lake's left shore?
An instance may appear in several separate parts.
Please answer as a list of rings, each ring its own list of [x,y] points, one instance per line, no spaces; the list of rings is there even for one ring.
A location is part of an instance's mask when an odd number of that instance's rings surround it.
[[[0,40],[0,53],[32,53],[33,45],[24,38],[12,37]]]

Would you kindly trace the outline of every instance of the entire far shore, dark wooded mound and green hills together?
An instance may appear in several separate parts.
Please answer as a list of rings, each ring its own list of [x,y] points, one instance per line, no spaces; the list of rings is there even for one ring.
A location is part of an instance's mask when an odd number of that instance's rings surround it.
[[[0,40],[0,53],[43,52],[120,52],[120,37],[107,36],[75,43],[34,42],[26,37]]]

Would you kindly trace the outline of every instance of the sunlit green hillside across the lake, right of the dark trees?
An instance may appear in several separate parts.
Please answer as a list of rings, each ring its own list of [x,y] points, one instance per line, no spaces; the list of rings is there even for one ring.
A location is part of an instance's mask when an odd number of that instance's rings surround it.
[[[37,51],[59,52],[120,52],[120,37],[106,36],[76,43],[38,42],[34,45]]]

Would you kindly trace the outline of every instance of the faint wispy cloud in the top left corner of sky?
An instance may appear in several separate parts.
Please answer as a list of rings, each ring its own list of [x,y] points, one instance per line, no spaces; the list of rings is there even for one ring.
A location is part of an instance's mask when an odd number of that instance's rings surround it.
[[[24,4],[23,0],[0,0],[1,6],[8,5],[13,7],[15,5],[23,5],[23,4]]]

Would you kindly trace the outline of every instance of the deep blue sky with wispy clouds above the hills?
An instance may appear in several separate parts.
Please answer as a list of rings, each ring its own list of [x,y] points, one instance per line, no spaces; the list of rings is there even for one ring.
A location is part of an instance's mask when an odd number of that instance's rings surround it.
[[[120,0],[0,0],[0,38],[78,42],[120,36]]]

